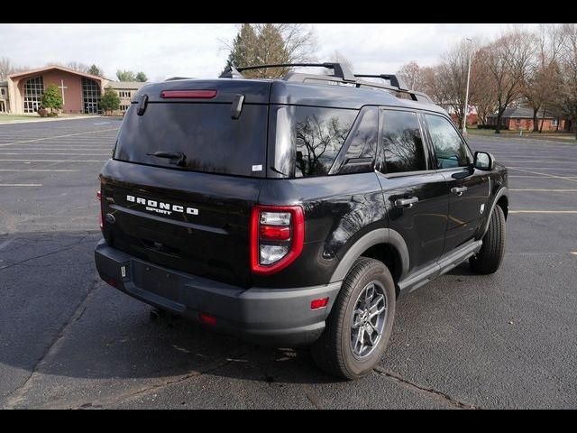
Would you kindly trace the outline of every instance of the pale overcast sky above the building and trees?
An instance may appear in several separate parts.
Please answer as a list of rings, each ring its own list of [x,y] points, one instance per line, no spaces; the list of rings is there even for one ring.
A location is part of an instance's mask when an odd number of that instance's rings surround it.
[[[318,60],[340,51],[357,73],[395,72],[415,60],[432,65],[463,38],[490,39],[511,24],[313,24]],[[535,28],[536,24],[523,24]],[[151,80],[212,78],[224,67],[237,24],[0,24],[0,56],[20,66],[96,63],[142,70]]]

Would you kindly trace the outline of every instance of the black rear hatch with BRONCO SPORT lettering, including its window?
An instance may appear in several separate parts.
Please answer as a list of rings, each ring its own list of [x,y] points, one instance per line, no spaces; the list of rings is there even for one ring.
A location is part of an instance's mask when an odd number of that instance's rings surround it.
[[[101,176],[107,242],[151,263],[249,286],[269,93],[270,82],[230,79],[142,88]]]

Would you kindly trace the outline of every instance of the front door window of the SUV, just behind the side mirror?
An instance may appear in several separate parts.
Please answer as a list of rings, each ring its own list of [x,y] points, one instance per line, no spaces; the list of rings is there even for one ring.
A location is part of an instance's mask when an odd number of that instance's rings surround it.
[[[425,115],[425,117],[438,169],[466,167],[472,163],[471,152],[447,119],[440,115]]]

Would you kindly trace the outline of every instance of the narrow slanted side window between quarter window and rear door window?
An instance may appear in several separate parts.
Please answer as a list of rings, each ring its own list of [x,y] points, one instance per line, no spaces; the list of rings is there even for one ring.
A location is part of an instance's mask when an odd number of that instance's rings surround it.
[[[379,109],[369,106],[362,109],[348,141],[349,147],[338,172],[359,173],[371,171],[379,137]],[[339,157],[340,158],[340,157]],[[340,161],[336,163],[339,164]]]

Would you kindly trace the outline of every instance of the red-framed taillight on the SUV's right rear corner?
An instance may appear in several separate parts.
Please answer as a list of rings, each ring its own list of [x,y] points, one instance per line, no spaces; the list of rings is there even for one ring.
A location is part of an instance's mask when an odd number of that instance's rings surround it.
[[[305,242],[300,206],[256,206],[251,216],[252,272],[267,275],[294,262]]]

